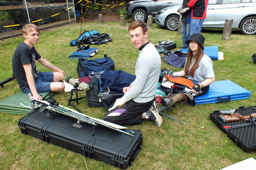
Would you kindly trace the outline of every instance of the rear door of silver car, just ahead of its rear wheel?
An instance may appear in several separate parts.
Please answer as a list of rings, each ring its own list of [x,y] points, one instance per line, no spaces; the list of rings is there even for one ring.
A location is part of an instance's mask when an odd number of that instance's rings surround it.
[[[240,18],[248,10],[251,3],[246,0],[221,0],[221,4],[216,9],[214,27],[223,28],[227,18],[233,19],[233,25],[240,21]],[[238,24],[236,24],[238,25]],[[237,26],[238,28],[238,26]]]

